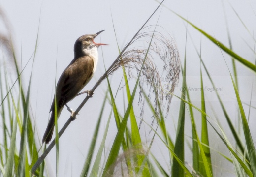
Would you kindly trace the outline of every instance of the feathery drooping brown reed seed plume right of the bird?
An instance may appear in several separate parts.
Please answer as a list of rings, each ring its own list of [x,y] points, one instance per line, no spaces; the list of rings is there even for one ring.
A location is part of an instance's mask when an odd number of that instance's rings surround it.
[[[175,41],[169,34],[163,35],[158,31],[149,31],[151,28],[144,28],[142,32],[134,37],[128,49],[116,60],[108,72],[108,75],[110,75],[124,66],[130,79],[136,78],[142,69],[139,78],[139,105],[142,119],[145,102],[143,92],[145,89],[149,89],[147,97],[154,99],[155,115],[153,116],[158,116],[164,106],[167,115],[172,93],[178,83],[180,74],[180,56]],[[146,43],[145,47],[141,43]],[[141,47],[137,47],[137,44]]]

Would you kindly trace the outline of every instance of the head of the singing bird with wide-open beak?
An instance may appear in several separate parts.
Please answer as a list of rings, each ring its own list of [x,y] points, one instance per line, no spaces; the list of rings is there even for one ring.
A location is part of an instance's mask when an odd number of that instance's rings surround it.
[[[87,53],[97,50],[97,48],[101,45],[108,45],[94,42],[96,36],[98,36],[103,31],[104,30],[99,31],[96,34],[86,34],[79,37],[74,45],[75,56],[78,57],[81,55],[87,55]]]

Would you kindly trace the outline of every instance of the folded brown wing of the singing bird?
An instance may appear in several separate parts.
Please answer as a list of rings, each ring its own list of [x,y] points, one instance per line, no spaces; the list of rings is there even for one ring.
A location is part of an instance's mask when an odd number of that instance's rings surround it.
[[[93,67],[93,59],[89,56],[84,56],[73,60],[64,70],[56,87],[56,100],[59,108],[62,108],[72,100],[89,82],[93,75]],[[54,100],[50,111],[53,109]]]

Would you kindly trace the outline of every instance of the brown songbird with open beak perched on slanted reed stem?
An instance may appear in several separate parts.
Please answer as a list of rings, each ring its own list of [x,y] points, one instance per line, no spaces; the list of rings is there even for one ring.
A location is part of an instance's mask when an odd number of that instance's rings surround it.
[[[79,37],[74,45],[74,59],[63,71],[55,91],[55,97],[50,109],[51,118],[45,130],[42,143],[49,143],[54,130],[55,110],[59,118],[65,104],[72,100],[92,79],[98,62],[98,47],[101,43],[95,43],[96,34],[83,35]],[[55,109],[56,102],[56,109]]]

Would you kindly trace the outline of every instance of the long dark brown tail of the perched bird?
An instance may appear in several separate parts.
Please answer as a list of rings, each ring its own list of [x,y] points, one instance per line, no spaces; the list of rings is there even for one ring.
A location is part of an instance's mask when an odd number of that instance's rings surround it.
[[[57,109],[57,118],[59,118],[61,110],[62,109]],[[46,144],[48,144],[51,141],[53,136],[53,131],[54,131],[54,125],[55,125],[55,111],[52,110],[52,115],[48,122],[47,128],[44,132],[42,143],[45,142]]]

